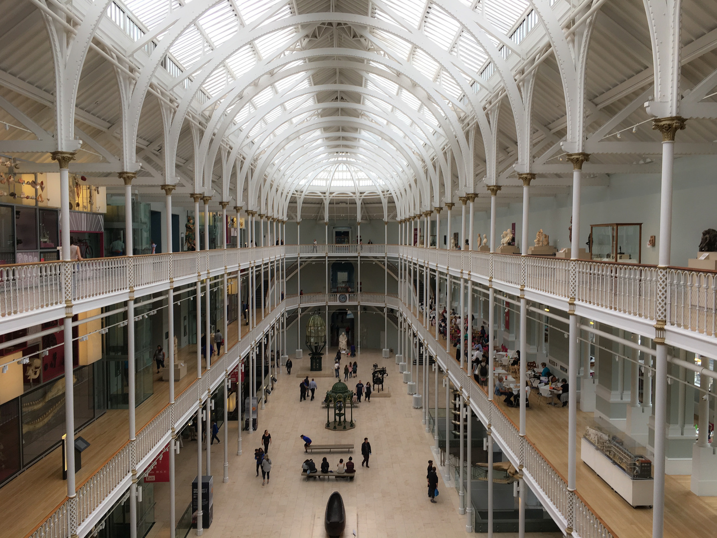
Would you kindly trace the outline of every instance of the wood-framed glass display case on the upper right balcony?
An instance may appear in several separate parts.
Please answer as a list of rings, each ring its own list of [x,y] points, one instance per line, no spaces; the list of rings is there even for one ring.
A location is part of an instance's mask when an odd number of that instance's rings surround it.
[[[590,225],[588,248],[592,260],[640,263],[642,222]]]

